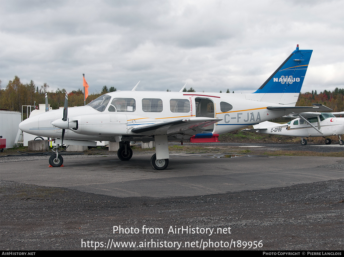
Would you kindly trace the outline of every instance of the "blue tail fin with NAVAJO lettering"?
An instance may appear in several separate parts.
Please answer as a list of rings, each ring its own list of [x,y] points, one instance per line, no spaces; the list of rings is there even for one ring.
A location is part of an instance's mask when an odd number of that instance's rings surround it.
[[[254,93],[300,93],[313,50],[296,50]]]

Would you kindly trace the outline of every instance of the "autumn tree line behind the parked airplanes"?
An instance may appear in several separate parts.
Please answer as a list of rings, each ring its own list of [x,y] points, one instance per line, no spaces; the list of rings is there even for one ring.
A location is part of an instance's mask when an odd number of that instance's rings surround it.
[[[183,92],[196,92],[193,88]],[[104,86],[101,93],[99,94],[89,94],[86,99],[86,104],[93,101],[97,97],[108,93],[114,92],[116,88]],[[169,91],[169,90],[167,90]],[[44,83],[40,88],[34,84],[31,80],[30,83],[23,84],[20,79],[15,76],[14,79],[8,82],[6,89],[1,88],[0,80],[0,109],[10,110],[10,111],[21,111],[22,105],[38,105],[45,103],[45,93],[48,93],[48,100],[50,107],[52,109],[58,109],[64,105],[65,89],[57,89],[55,92],[52,90],[49,92],[49,85]],[[229,90],[227,89],[227,93]],[[234,93],[234,91],[233,91]],[[344,110],[343,107],[343,96],[344,89],[338,89],[317,93],[316,90],[306,93],[301,93],[296,106],[311,106],[312,103],[321,103],[331,108],[333,112],[340,112]],[[84,91],[83,90],[73,90],[68,93],[68,106],[82,106],[84,105]]]

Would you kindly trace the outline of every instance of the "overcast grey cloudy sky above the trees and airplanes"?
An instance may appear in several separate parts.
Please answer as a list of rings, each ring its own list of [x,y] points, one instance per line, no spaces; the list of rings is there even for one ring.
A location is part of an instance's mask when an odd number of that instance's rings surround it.
[[[344,88],[344,0],[0,0],[1,88],[254,92],[313,49],[301,92]]]

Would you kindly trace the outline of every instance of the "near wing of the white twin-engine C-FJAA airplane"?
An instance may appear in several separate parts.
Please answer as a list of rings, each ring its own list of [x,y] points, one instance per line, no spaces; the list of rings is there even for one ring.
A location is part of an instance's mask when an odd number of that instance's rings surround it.
[[[153,125],[136,127],[131,130],[140,135],[168,135],[190,134],[191,136],[206,130],[204,127],[221,121],[222,119],[195,117],[176,121],[167,121]]]

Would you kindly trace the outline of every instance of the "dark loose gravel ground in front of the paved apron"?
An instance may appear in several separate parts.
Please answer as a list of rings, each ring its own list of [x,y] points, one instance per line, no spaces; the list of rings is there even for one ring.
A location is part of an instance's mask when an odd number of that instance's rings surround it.
[[[262,247],[257,249],[264,250],[343,250],[343,182],[153,199],[1,181],[0,246],[4,250],[81,250],[94,249],[95,242],[107,247],[114,240],[136,242],[136,246],[139,242],[181,242],[180,249],[195,249],[185,247],[185,242],[195,242],[196,247],[203,240],[202,249],[205,242],[215,244],[205,249],[229,249],[225,242],[240,240],[260,242]],[[163,233],[142,234],[144,225],[162,228]],[[138,228],[140,233],[113,233],[113,226]],[[168,233],[171,226],[214,228],[215,232],[230,227],[231,233],[172,234]],[[90,247],[86,243],[82,247],[82,240],[89,241]],[[221,241],[223,247],[216,247]],[[117,249],[177,248],[166,244]]]

